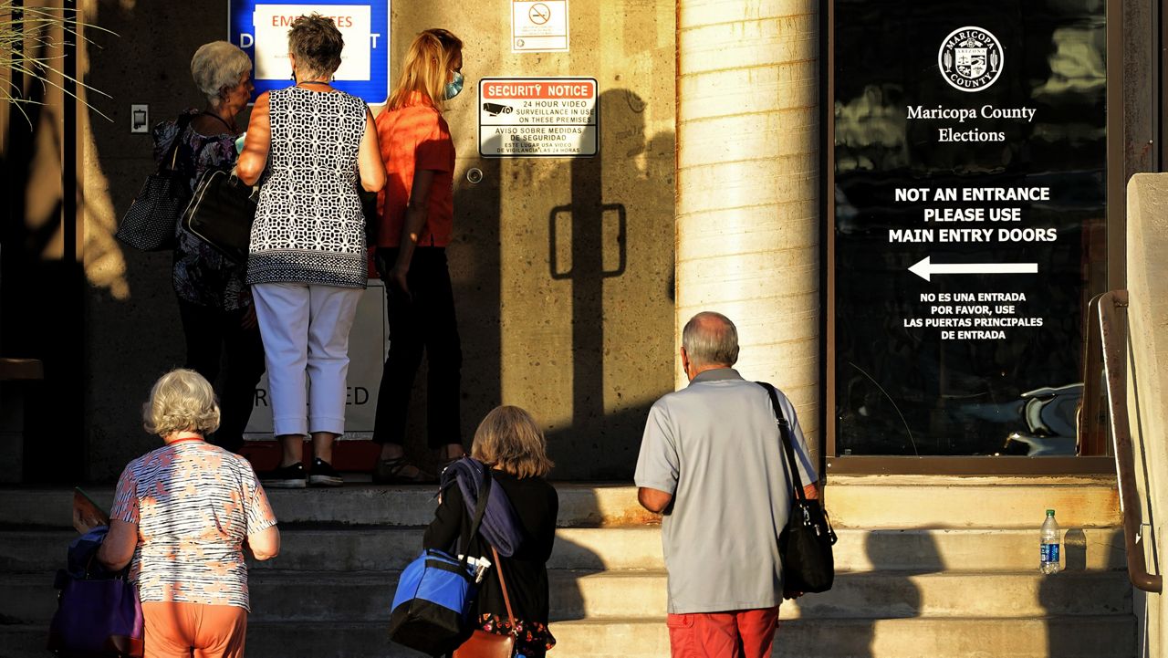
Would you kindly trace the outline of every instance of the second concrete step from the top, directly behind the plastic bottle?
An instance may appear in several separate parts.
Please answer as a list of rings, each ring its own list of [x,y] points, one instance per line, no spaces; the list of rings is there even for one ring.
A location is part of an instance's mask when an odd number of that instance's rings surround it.
[[[384,572],[402,569],[422,547],[420,528],[284,527],[279,557],[257,562],[258,570]],[[1037,565],[1036,529],[841,528],[836,568],[847,572],[1023,572]],[[1064,560],[1072,570],[1125,568],[1118,528],[1065,531]],[[20,572],[64,566],[71,529],[0,529],[0,565]],[[656,526],[561,528],[552,569],[661,569]]]

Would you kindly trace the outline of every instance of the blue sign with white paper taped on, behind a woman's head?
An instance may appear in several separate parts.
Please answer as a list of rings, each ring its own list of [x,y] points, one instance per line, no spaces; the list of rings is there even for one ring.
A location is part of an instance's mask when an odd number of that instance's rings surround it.
[[[341,65],[333,86],[370,105],[389,99],[390,0],[313,0],[260,2],[228,0],[228,41],[251,57],[256,97],[293,84],[288,62],[288,28],[303,15],[332,18],[345,36]]]

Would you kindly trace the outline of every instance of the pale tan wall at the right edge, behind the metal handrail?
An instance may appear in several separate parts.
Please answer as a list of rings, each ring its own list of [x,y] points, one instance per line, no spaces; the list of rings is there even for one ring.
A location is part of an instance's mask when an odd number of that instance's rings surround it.
[[[1168,174],[1135,174],[1127,185],[1127,290],[1131,362],[1128,416],[1139,451],[1145,556],[1148,572],[1163,573],[1155,561],[1168,548]],[[1131,503],[1124,501],[1125,505]],[[1148,514],[1150,507],[1152,513]],[[1150,538],[1148,536],[1150,529]],[[1148,541],[1150,539],[1150,541]],[[1154,546],[1154,550],[1153,550]],[[1146,604],[1139,610],[1139,601]],[[1163,595],[1136,600],[1145,617],[1145,656],[1161,656],[1168,605]]]

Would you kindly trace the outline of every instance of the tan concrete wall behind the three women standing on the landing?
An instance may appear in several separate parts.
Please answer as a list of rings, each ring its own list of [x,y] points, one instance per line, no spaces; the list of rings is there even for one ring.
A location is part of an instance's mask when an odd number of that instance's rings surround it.
[[[466,43],[466,88],[446,113],[458,152],[449,256],[465,355],[464,438],[470,443],[492,407],[519,404],[547,428],[555,477],[628,478],[645,411],[674,385],[676,6],[570,2],[565,54],[512,54],[508,6],[392,2],[391,77],[422,29],[445,27]],[[104,235],[102,249],[86,254],[86,465],[91,478],[111,479],[153,445],[138,427],[138,407],[151,382],[183,360],[169,256],[130,252],[109,240],[113,217],[153,167],[148,137],[126,127],[130,104],[148,103],[152,122],[201,104],[190,55],[227,36],[227,4],[93,4],[89,18],[121,35],[89,53],[89,82],[113,96],[99,103],[113,122],[93,118],[85,178],[86,194],[109,207],[88,226]],[[600,155],[480,158],[477,83],[487,76],[595,77]],[[482,182],[467,182],[471,167],[485,173]],[[627,221],[626,268],[603,273],[619,264],[618,206]],[[561,263],[576,265],[572,276],[552,276],[552,248]],[[423,383],[411,411],[415,452],[424,451]]]

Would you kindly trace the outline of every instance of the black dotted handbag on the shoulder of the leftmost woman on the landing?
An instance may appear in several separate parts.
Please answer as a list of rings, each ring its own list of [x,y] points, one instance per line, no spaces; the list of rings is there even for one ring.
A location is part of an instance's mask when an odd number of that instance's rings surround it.
[[[134,202],[118,222],[118,230],[113,236],[121,243],[142,251],[165,251],[174,249],[178,244],[175,228],[179,226],[182,209],[190,201],[190,183],[181,173],[174,171],[174,165],[179,157],[182,133],[187,131],[189,123],[190,115],[182,115],[175,122],[179,131],[174,134],[174,141],[166,152],[166,158],[157,172],[146,176],[146,182],[138,191]]]

